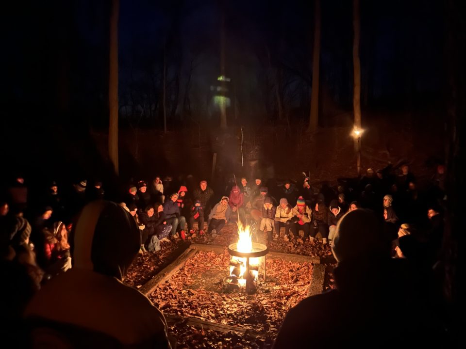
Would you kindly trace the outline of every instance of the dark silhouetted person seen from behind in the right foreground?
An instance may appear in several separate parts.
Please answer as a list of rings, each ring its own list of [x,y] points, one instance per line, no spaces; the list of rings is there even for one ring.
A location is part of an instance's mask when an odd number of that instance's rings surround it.
[[[338,222],[336,289],[308,297],[286,315],[274,348],[422,348],[441,331],[429,284],[408,260],[390,258],[390,238],[369,211]]]

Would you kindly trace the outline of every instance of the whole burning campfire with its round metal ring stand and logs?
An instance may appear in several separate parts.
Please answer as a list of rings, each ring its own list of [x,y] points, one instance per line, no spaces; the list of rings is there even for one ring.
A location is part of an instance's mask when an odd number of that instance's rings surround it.
[[[259,265],[263,262],[264,280],[266,278],[265,256],[267,246],[252,242],[250,225],[244,226],[238,220],[238,242],[228,246],[230,260],[230,289],[245,288],[247,293],[256,291],[256,280],[259,275]]]

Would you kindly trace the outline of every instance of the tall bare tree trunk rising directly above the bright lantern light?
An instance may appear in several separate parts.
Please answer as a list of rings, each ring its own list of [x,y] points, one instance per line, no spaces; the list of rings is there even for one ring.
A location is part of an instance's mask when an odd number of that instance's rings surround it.
[[[354,111],[354,126],[361,128],[361,63],[359,62],[359,38],[360,38],[360,23],[359,23],[359,0],[353,0],[353,111]]]

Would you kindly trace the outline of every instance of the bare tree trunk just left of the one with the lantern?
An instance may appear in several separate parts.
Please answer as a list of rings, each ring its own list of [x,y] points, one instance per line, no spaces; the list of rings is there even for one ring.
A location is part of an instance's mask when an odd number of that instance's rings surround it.
[[[315,132],[319,122],[320,0],[315,1],[311,114],[309,116],[308,132]]]

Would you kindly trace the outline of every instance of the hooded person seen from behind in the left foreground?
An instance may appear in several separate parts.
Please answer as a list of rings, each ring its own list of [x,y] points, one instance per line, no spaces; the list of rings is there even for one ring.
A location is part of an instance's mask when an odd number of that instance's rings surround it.
[[[26,309],[32,346],[171,348],[162,312],[122,283],[140,248],[133,217],[113,202],[94,201],[73,233],[73,268]]]

